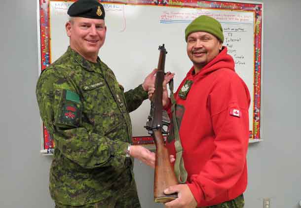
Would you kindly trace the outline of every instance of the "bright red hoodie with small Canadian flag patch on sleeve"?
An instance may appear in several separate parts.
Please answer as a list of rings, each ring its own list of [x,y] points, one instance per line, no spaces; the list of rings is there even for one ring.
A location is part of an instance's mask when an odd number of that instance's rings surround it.
[[[250,94],[226,47],[193,73],[192,67],[175,93],[180,105],[176,117],[187,184],[198,207],[205,207],[232,200],[246,189]],[[186,80],[193,82],[190,89]],[[179,97],[181,89],[188,92],[186,98]],[[170,106],[167,111],[171,116]],[[176,155],[170,139],[166,146]]]

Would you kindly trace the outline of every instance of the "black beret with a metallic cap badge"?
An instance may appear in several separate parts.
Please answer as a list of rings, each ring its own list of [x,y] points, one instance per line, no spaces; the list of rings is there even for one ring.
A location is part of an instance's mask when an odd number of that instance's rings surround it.
[[[105,19],[104,6],[98,0],[77,0],[68,9],[71,17]]]

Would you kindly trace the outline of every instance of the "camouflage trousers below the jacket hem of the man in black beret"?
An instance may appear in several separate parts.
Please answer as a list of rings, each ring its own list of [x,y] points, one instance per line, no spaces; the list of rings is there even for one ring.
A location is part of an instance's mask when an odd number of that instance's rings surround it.
[[[141,208],[135,180],[132,180],[128,184],[122,184],[122,187],[124,188],[120,188],[120,191],[114,196],[97,203],[83,206],[69,206],[55,202],[55,208]]]

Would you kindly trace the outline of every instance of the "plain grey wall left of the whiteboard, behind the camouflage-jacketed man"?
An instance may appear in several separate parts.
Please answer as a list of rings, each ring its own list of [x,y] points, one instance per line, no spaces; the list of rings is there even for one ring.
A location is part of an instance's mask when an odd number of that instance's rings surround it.
[[[0,23],[0,207],[51,208],[50,158],[38,153],[36,0],[1,0]]]

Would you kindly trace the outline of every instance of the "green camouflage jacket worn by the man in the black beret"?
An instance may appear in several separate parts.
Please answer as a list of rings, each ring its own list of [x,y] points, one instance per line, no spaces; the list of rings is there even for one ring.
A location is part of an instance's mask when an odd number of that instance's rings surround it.
[[[69,47],[40,75],[36,94],[56,145],[49,184],[55,202],[82,206],[125,189],[136,193],[133,161],[125,149],[132,137],[129,112],[148,98],[141,85],[123,93],[99,58],[88,62]],[[128,200],[136,203],[137,193],[134,198]]]

